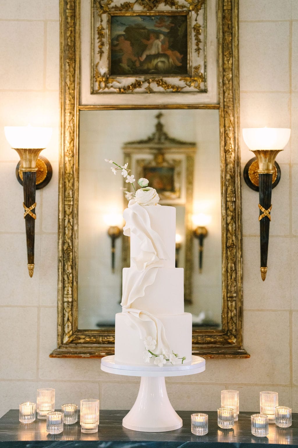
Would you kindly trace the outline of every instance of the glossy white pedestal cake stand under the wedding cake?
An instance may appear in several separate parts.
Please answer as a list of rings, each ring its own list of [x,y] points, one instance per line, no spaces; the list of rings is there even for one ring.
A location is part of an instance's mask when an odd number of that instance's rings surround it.
[[[182,419],[168,399],[165,377],[193,375],[205,370],[205,359],[193,356],[189,365],[132,366],[116,364],[115,356],[101,359],[101,370],[114,375],[140,376],[141,384],[137,399],[122,425],[134,431],[173,431],[182,426]]]

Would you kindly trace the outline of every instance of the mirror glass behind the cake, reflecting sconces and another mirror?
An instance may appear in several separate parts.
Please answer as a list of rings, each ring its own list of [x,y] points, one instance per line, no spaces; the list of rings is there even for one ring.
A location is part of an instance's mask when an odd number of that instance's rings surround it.
[[[194,327],[221,328],[218,110],[81,111],[79,135],[78,327],[113,327],[121,312],[122,268],[129,266],[129,241],[120,235],[127,201],[121,172],[113,175],[108,158],[129,162],[136,179],[150,180],[160,203],[176,207],[185,311],[193,314]]]

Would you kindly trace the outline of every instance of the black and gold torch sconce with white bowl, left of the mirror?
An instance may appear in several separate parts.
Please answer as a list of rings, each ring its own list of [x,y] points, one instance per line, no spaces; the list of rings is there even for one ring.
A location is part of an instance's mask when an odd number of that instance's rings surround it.
[[[25,209],[24,218],[27,239],[27,259],[29,276],[34,271],[34,227],[35,227],[35,192],[46,186],[52,177],[50,162],[45,158],[38,158],[39,153],[46,148],[52,135],[51,128],[34,126],[5,126],[5,137],[10,146],[20,156],[16,174],[23,185]],[[36,185],[38,182],[38,186]]]

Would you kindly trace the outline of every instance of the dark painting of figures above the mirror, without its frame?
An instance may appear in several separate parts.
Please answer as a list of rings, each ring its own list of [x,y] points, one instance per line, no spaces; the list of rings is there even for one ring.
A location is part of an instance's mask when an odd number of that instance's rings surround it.
[[[111,15],[110,76],[188,74],[188,17]]]

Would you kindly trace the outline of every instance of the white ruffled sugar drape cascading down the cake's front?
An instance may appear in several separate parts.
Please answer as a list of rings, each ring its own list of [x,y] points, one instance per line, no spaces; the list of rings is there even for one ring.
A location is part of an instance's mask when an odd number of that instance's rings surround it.
[[[128,203],[128,208],[123,213],[126,225],[123,233],[127,237],[134,235],[139,240],[140,250],[131,250],[130,258],[137,270],[129,270],[123,283],[122,313],[125,313],[130,325],[138,332],[141,339],[152,336],[156,340],[155,351],[162,353],[162,349],[170,349],[165,336],[164,325],[153,314],[133,307],[134,301],[144,297],[145,289],[154,283],[157,268],[163,266],[163,261],[168,259],[168,253],[159,234],[151,228],[150,216],[147,207],[141,206],[134,199]],[[155,325],[155,335],[147,334],[147,326],[144,324],[151,320]]]

